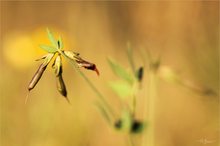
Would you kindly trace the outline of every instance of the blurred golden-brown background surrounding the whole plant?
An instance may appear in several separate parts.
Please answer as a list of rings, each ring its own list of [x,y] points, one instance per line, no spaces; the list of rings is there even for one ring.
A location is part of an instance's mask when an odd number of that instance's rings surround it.
[[[50,67],[24,104],[28,83],[39,66],[34,60],[45,54],[38,46],[49,43],[46,27],[63,37],[65,49],[79,52],[97,65],[100,77],[82,71],[116,109],[118,98],[107,85],[116,77],[106,58],[111,56],[128,66],[127,42],[139,65],[143,64],[140,50],[148,49],[182,78],[213,89],[217,96],[203,96],[161,80],[155,145],[218,145],[218,1],[1,1],[0,5],[2,146],[127,145],[124,134],[103,120],[94,107],[96,95],[67,62],[63,76],[71,105],[56,90]],[[138,100],[137,106],[143,107],[144,99]],[[138,109],[139,115],[142,111]]]

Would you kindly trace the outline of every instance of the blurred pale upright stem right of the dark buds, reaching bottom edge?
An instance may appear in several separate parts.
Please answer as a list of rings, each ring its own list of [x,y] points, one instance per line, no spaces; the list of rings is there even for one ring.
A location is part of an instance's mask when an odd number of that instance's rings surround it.
[[[142,58],[145,62],[146,70],[148,71],[146,76],[147,86],[145,86],[145,92],[147,97],[144,101],[143,116],[149,123],[148,129],[143,133],[141,146],[154,146],[155,145],[155,102],[156,102],[156,90],[157,90],[157,75],[156,70],[153,69],[151,64],[153,59],[150,52],[142,50]]]

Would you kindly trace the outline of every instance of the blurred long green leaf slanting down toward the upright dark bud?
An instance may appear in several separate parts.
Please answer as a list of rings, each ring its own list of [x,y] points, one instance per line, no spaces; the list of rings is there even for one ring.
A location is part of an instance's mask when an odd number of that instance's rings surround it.
[[[129,74],[125,68],[120,66],[116,61],[113,61],[112,59],[108,59],[109,65],[112,69],[112,71],[120,78],[123,80],[127,81],[130,84],[133,84],[134,82],[134,77]]]

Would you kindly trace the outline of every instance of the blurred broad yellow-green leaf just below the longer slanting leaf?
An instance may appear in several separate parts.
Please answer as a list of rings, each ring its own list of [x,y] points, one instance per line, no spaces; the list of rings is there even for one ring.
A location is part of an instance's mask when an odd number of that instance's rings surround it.
[[[111,89],[121,98],[131,96],[133,94],[132,86],[124,81],[110,82]]]

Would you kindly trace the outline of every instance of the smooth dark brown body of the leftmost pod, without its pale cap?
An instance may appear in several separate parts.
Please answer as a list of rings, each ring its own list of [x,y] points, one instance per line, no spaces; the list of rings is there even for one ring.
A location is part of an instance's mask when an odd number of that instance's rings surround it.
[[[41,76],[43,75],[45,69],[47,68],[47,65],[45,65],[44,63],[42,63],[37,72],[34,74],[33,78],[31,79],[29,85],[28,85],[28,90],[31,91],[36,84],[38,83],[38,81],[40,80]]]

